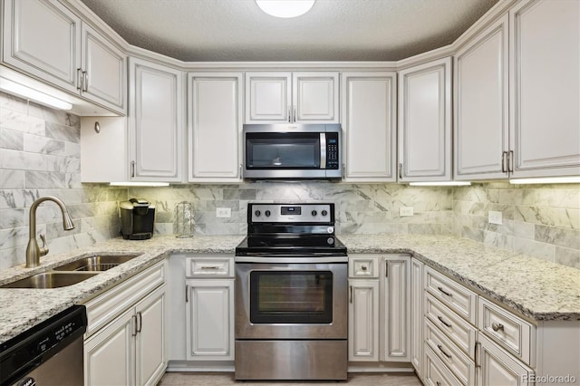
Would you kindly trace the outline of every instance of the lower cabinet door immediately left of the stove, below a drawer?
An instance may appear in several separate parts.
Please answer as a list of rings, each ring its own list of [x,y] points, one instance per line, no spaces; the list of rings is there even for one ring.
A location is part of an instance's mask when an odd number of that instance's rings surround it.
[[[186,280],[188,359],[234,359],[234,281]]]

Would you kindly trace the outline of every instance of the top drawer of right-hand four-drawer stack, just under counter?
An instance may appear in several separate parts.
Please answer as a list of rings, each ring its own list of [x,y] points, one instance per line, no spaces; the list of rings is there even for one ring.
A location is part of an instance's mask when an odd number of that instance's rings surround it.
[[[476,323],[477,294],[429,266],[425,267],[425,289],[469,323]]]

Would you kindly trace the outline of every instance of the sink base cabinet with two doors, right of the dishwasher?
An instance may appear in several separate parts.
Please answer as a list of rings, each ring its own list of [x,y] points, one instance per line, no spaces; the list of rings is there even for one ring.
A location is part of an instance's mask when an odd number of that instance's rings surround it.
[[[167,365],[165,263],[86,304],[85,385],[156,384]]]

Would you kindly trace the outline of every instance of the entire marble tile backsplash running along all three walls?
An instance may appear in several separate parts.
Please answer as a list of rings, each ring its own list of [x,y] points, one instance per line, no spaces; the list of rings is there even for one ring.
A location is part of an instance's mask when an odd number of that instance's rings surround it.
[[[251,201],[336,205],[338,234],[455,234],[482,243],[580,268],[580,185],[511,186],[507,182],[461,188],[333,182],[177,185],[111,188],[81,183],[80,120],[63,111],[0,93],[0,269],[24,263],[29,208],[34,199],[62,198],[76,225],[63,231],[60,211],[43,203],[37,235],[51,254],[119,235],[119,202],[145,198],[156,206],[155,232],[175,233],[175,208],[192,204],[196,234],[244,235]],[[217,207],[232,216],[216,217]],[[400,217],[400,207],[414,216]],[[503,225],[488,224],[488,211]],[[461,256],[458,256],[461,258]]]

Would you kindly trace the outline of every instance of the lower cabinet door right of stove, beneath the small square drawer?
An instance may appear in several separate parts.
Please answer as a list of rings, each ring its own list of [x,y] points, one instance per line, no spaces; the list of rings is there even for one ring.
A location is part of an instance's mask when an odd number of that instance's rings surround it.
[[[379,361],[379,281],[349,280],[348,360]]]

